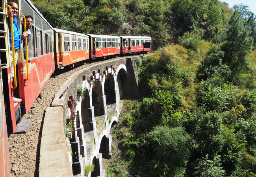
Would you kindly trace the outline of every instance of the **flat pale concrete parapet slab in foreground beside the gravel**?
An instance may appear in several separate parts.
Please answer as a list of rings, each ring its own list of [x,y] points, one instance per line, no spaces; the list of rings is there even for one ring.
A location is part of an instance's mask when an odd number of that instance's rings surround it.
[[[67,154],[62,115],[62,107],[46,109],[40,147],[40,177],[73,176]]]

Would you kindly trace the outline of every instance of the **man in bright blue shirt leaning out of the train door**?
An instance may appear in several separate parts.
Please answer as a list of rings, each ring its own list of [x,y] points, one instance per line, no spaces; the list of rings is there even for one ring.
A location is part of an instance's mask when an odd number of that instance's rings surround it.
[[[21,40],[25,39],[25,37],[28,37],[28,32],[24,31],[22,35],[20,35],[20,28],[18,26],[18,20],[17,15],[19,13],[19,7],[15,2],[8,2],[8,5],[11,6],[12,10],[7,11],[8,19],[8,27],[9,27],[9,38],[10,38],[10,60],[11,60],[11,75],[14,77],[14,69],[13,65],[17,65],[18,62],[18,52],[17,50],[21,47]],[[14,44],[11,43],[11,22],[10,17],[13,17],[13,33],[14,33]],[[14,46],[13,46],[14,45]],[[15,48],[15,64],[13,63],[13,52],[12,47]],[[20,98],[13,97],[13,101],[15,103],[20,102]]]

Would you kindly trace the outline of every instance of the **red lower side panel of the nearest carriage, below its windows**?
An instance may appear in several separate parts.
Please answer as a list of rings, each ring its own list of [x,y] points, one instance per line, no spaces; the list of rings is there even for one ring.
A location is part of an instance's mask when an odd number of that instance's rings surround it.
[[[25,105],[26,113],[28,113],[33,102],[54,72],[54,56],[53,53],[50,53],[33,59],[29,63],[28,81],[24,81],[27,78],[26,63],[18,63],[18,65],[21,103]]]

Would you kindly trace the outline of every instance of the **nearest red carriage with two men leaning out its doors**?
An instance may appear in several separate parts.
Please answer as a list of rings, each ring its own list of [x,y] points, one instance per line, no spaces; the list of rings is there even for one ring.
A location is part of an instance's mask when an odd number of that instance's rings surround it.
[[[6,2],[6,1],[2,1]],[[25,114],[32,107],[33,102],[43,90],[48,79],[55,70],[54,66],[54,51],[52,48],[52,26],[45,20],[43,15],[33,6],[30,0],[16,1],[19,6],[19,14],[17,16],[20,30],[21,15],[31,15],[33,17],[33,25],[30,29],[31,37],[28,44],[27,55],[30,63],[26,61],[26,55],[23,51],[23,46],[17,50],[18,63],[16,66],[16,74],[12,79],[11,76],[11,61],[10,61],[10,44],[9,44],[9,29],[7,26],[7,18],[4,15],[4,24],[0,30],[5,31],[4,40],[0,43],[1,62],[6,65],[3,70],[3,87],[4,100],[6,104],[6,120],[9,133],[15,133],[17,122],[19,122],[22,114]],[[5,4],[3,4],[4,7]],[[5,8],[4,8],[5,9]],[[7,9],[5,9],[5,13]],[[24,24],[25,20],[24,20]],[[21,31],[22,33],[22,31]],[[12,81],[14,81],[12,83]],[[21,98],[22,101],[14,103],[14,96]]]

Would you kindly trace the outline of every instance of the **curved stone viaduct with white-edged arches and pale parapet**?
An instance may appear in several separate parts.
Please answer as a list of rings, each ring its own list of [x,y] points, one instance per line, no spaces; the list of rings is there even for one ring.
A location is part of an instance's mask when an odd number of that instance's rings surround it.
[[[134,59],[105,61],[67,78],[45,112],[39,176],[83,177],[85,166],[92,164],[88,176],[105,176],[102,158],[111,158],[109,132],[118,121],[119,101],[138,95]]]

